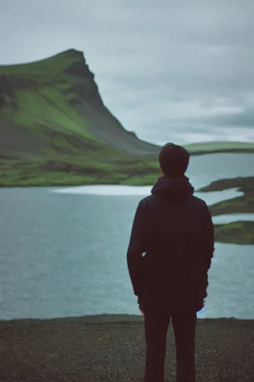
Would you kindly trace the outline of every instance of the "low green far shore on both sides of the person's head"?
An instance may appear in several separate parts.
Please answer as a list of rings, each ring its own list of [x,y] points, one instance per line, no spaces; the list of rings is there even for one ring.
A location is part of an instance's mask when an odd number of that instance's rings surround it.
[[[254,154],[254,142],[200,142],[182,145],[190,156]],[[160,147],[158,146],[158,150]],[[158,153],[0,157],[0,188],[126,185],[150,186],[159,173]]]

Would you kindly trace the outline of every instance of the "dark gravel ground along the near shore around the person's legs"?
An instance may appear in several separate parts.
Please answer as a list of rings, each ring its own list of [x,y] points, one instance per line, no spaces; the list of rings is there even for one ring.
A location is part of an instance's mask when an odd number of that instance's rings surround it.
[[[142,316],[0,321],[0,382],[142,382]],[[165,381],[175,381],[167,338]],[[254,320],[198,319],[196,382],[254,382]]]

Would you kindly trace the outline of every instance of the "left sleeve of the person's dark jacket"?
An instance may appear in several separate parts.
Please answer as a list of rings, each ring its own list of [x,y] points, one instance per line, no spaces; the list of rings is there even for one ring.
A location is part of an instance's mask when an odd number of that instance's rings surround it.
[[[146,252],[145,246],[145,225],[144,225],[144,205],[139,202],[134,216],[130,240],[127,250],[127,266],[134,294],[140,293],[143,273],[143,256]]]

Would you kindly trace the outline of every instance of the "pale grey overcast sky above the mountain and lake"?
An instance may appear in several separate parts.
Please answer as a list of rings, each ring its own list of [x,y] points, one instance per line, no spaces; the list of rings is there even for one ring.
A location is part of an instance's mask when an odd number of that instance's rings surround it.
[[[0,0],[0,64],[84,52],[140,139],[254,141],[253,0]]]

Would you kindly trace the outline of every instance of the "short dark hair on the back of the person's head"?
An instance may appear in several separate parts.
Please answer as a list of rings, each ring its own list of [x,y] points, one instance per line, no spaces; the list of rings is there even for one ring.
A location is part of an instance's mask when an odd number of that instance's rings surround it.
[[[185,175],[190,161],[190,153],[182,146],[166,143],[159,154],[160,167],[167,178]]]

